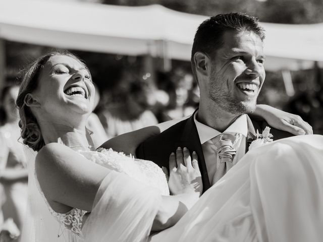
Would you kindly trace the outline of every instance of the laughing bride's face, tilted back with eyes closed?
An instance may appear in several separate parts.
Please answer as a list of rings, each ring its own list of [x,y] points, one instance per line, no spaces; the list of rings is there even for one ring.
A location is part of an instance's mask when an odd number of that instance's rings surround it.
[[[89,114],[93,108],[94,86],[89,72],[77,59],[52,56],[40,73],[33,92],[42,114],[49,118],[68,119]]]

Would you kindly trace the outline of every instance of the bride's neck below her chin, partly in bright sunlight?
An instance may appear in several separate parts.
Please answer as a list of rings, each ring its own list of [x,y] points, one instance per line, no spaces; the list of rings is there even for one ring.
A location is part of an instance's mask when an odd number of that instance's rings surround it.
[[[45,144],[60,143],[74,150],[92,150],[94,148],[85,125],[70,127],[62,124],[42,123],[40,130]]]

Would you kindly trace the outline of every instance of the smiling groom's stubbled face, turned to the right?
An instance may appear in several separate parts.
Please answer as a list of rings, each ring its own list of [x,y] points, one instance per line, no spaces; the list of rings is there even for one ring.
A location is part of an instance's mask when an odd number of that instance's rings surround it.
[[[262,41],[253,32],[227,31],[211,58],[208,97],[225,111],[253,112],[265,78]]]

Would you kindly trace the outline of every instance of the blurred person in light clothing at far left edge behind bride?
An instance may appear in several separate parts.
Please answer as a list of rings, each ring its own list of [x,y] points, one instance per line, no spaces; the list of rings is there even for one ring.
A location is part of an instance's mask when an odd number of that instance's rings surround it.
[[[7,146],[3,154],[4,170],[0,173],[0,183],[3,185],[7,200],[3,205],[4,219],[13,218],[21,230],[27,205],[28,171],[23,144],[18,141],[20,128],[19,114],[16,107],[19,86],[9,85],[2,90],[2,118],[0,136]]]

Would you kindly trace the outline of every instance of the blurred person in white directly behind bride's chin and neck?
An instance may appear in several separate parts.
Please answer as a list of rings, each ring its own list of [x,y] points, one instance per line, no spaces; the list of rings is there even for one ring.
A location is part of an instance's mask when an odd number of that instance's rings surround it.
[[[93,111],[87,118],[86,127],[90,130],[91,138],[93,140],[94,147],[99,147],[103,142],[107,141],[107,135],[105,130],[100,122],[100,119],[94,112],[94,109],[97,107],[100,101],[100,93],[97,85],[93,82],[95,88],[94,104]]]

